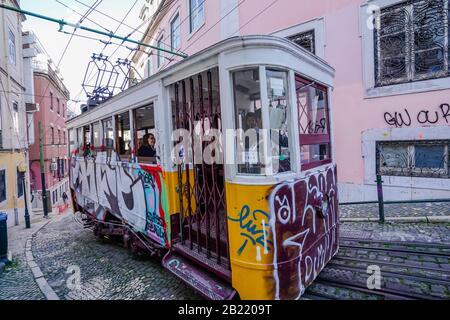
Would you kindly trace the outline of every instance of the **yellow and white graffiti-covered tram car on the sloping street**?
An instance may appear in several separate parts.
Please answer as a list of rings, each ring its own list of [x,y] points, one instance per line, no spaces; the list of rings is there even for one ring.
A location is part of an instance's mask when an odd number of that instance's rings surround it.
[[[207,298],[297,299],[338,250],[333,78],[277,37],[192,55],[68,122],[74,207]]]

